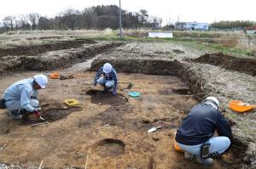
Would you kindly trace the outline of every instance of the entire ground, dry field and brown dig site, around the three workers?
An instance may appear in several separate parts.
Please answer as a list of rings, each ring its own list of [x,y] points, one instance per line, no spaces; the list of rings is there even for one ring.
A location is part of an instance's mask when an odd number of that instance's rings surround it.
[[[173,39],[151,39],[145,30],[125,31],[122,41],[116,32],[0,35],[0,95],[40,72],[72,77],[49,79],[39,91],[47,125],[32,127],[32,117],[14,121],[0,110],[0,168],[38,168],[41,161],[42,168],[204,168],[185,161],[173,149],[173,137],[191,107],[209,95],[220,100],[235,138],[211,168],[256,167],[256,110],[237,114],[227,105],[232,99],[255,104],[254,44],[241,46],[231,32],[177,31]],[[101,87],[92,91],[105,62],[118,72],[117,96]],[[130,91],[142,95],[131,98]],[[67,106],[65,99],[80,106]]]

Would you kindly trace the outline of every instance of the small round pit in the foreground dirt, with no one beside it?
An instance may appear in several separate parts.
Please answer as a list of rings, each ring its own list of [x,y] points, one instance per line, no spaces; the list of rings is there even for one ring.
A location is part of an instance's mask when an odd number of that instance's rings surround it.
[[[101,157],[117,156],[125,151],[125,143],[119,139],[105,138],[94,146],[93,151]]]

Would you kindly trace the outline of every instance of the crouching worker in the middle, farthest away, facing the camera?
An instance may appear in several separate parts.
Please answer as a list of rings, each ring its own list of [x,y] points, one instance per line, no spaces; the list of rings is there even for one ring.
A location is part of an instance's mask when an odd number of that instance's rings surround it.
[[[99,78],[101,75],[103,75],[103,77]],[[97,83],[99,83],[102,87],[104,87],[105,91],[109,91],[113,89],[113,95],[117,94],[118,79],[117,79],[116,71],[114,70],[112,65],[110,65],[109,63],[106,63],[103,65],[102,68],[100,68],[96,72],[94,87],[96,87]]]

